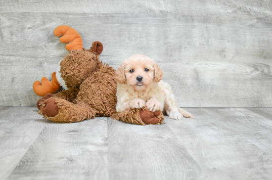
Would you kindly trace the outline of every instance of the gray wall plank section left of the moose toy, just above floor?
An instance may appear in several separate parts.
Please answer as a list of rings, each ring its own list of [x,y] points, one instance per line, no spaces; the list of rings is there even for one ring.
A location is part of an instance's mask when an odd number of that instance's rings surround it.
[[[33,83],[44,76],[51,80],[57,67],[55,59],[0,55],[0,80],[4,82],[0,87],[0,105],[36,106],[41,97],[33,91]]]

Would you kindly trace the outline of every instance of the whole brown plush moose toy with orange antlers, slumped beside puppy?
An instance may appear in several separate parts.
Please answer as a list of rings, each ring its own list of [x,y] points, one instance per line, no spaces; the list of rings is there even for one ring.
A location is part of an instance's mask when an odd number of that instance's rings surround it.
[[[69,43],[65,46],[69,54],[60,61],[51,81],[44,77],[42,84],[33,84],[35,93],[44,96],[37,102],[44,118],[72,123],[104,116],[139,125],[163,124],[161,111],[130,108],[116,112],[115,70],[99,59],[102,43],[95,41],[90,49],[83,48],[81,36],[69,26],[58,26],[54,35],[62,36],[61,43]],[[57,92],[60,87],[64,90]]]

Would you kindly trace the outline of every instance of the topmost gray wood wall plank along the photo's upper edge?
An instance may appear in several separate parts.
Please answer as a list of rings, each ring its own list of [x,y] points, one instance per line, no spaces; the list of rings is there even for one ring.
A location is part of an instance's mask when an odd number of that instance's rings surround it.
[[[272,17],[269,0],[1,0],[1,12],[252,14]]]

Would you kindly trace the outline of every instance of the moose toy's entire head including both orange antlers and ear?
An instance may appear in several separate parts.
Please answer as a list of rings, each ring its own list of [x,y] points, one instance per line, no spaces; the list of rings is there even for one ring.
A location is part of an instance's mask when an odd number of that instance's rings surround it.
[[[65,48],[70,51],[70,54],[60,62],[59,72],[52,74],[52,81],[44,77],[42,78],[42,84],[40,81],[34,82],[33,90],[39,96],[55,93],[60,89],[60,86],[65,90],[77,88],[88,74],[97,69],[99,64],[98,55],[103,50],[102,43],[98,41],[93,42],[92,47],[88,50],[83,48],[80,34],[69,26],[56,27],[54,35],[61,36],[59,38],[61,43],[68,43]]]

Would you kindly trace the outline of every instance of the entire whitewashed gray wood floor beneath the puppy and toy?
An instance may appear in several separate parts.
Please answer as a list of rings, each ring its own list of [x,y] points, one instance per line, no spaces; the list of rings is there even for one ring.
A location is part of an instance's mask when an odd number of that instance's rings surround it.
[[[0,106],[0,180],[271,180],[272,108],[185,109],[196,118],[138,126]]]

